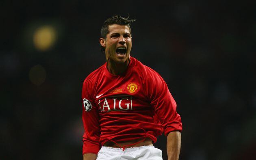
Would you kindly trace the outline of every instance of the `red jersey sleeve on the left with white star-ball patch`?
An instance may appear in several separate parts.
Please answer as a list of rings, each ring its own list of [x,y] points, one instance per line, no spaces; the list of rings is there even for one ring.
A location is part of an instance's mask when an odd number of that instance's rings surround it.
[[[82,154],[98,154],[100,150],[100,126],[98,109],[93,101],[91,83],[85,79],[82,86],[82,122],[85,129],[83,134]]]

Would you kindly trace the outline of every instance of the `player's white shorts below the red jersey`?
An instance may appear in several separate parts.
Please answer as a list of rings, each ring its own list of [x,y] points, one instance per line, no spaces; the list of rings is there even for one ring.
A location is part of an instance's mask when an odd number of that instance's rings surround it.
[[[96,160],[163,160],[162,151],[154,146],[126,148],[104,147],[98,152]]]

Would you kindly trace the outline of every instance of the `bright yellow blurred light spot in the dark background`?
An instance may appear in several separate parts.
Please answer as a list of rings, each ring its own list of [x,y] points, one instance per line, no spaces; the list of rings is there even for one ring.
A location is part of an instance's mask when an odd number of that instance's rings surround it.
[[[35,48],[46,51],[54,45],[56,41],[56,30],[52,26],[41,26],[35,30],[33,42]]]

